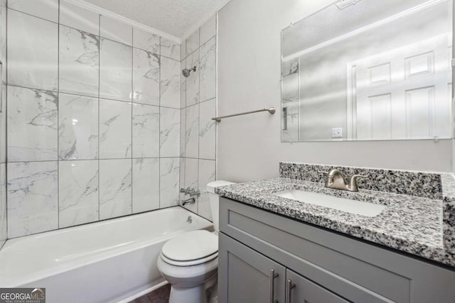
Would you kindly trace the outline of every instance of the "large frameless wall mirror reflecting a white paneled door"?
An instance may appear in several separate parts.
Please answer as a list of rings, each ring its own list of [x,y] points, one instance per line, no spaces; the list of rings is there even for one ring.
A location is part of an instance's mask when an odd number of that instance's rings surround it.
[[[282,31],[282,141],[451,138],[452,0],[341,0]]]

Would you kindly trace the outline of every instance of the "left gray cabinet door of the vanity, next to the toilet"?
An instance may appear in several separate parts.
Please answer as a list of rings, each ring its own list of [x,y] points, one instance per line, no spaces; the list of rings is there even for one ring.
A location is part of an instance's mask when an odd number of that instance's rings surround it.
[[[220,303],[284,303],[286,271],[282,265],[223,233],[219,241]]]

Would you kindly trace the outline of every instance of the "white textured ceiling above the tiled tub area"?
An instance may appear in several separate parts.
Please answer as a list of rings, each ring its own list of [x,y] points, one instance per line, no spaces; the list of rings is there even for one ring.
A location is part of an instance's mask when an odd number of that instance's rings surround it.
[[[226,0],[85,0],[164,33],[184,37]]]

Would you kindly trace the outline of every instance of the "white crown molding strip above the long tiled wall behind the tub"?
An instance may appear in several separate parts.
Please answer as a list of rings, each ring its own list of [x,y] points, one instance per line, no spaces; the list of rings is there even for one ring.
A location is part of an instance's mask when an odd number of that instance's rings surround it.
[[[119,15],[118,13],[114,13],[112,11],[108,11],[107,9],[102,9],[100,6],[96,6],[96,5],[93,5],[93,4],[90,4],[86,1],[83,1],[83,0],[63,0],[63,1],[66,1],[70,4],[74,4],[76,6],[79,6],[81,7],[82,9],[87,9],[88,11],[93,11],[95,13],[99,13],[100,15],[102,16],[107,16],[109,18],[113,18],[117,21],[122,21],[123,23],[127,23],[129,24],[130,26],[134,26],[135,28],[140,28],[141,30],[144,30],[144,31],[147,31],[149,33],[154,33],[155,35],[159,35],[163,38],[166,38],[168,40],[171,40],[173,42],[176,42],[178,44],[181,43],[181,39],[174,36],[174,35],[169,35],[168,33],[164,33],[163,31],[159,31],[155,28],[151,28],[150,26],[146,26],[142,23],[139,23],[137,21],[133,21],[129,18],[126,18],[124,16],[121,16]],[[212,16],[212,15],[210,15]],[[207,19],[208,20],[208,19]]]

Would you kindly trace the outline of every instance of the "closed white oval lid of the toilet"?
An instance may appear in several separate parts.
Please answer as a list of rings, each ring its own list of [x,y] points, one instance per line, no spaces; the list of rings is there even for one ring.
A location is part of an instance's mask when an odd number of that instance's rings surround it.
[[[161,253],[168,259],[184,262],[206,258],[218,252],[218,236],[209,231],[188,231],[167,241]]]

